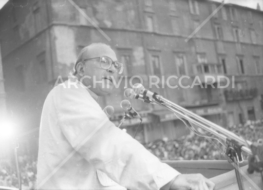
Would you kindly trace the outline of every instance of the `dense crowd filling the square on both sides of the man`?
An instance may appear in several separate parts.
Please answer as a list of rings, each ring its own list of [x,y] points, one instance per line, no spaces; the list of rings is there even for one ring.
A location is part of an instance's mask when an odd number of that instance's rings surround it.
[[[244,125],[227,127],[246,140],[255,142],[263,139],[263,120],[247,121]],[[225,159],[225,147],[217,140],[190,133],[176,140],[162,139],[144,145],[160,160],[219,160]],[[244,156],[246,158],[246,156]],[[36,189],[37,160],[28,155],[19,156],[23,190]],[[0,163],[0,186],[18,188],[18,178],[14,163]]]

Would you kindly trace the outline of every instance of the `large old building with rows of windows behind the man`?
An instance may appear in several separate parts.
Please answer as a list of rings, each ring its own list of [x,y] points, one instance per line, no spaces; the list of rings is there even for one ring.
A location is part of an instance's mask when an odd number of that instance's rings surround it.
[[[132,76],[223,127],[263,116],[260,10],[210,0],[10,0],[0,10],[0,42],[7,110],[21,133],[39,128],[46,95],[93,42],[111,45],[125,64],[119,88],[99,102],[114,107],[116,125],[125,88],[140,82]],[[143,118],[139,141],[189,133],[169,111],[130,101]],[[131,119],[122,128],[132,135],[138,124]]]

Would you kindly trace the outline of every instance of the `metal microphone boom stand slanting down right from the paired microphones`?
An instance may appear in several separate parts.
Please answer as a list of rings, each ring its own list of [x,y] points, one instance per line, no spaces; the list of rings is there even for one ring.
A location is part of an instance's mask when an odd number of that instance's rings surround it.
[[[247,141],[240,136],[236,135],[235,133],[232,133],[210,121],[207,119],[194,114],[185,108],[165,99],[163,96],[158,95],[154,93],[153,97],[150,98],[152,103],[158,104],[159,106],[168,109],[169,111],[173,112],[179,119],[185,118],[188,120],[188,122],[191,124],[195,124],[199,126],[200,128],[204,129],[205,131],[214,134],[216,137],[220,138],[221,140],[224,140],[225,144],[228,145],[228,148],[226,149],[225,154],[230,158],[231,161],[234,162],[234,168],[236,172],[237,182],[240,190],[244,190],[244,184],[240,172],[239,163],[243,162],[243,155],[242,151],[249,153],[252,155],[252,151],[250,149],[250,146],[253,147],[252,143],[250,141]],[[186,114],[184,114],[186,113]],[[193,118],[198,119],[195,120]],[[261,151],[261,157],[263,152],[263,146],[258,148],[258,152]],[[263,160],[260,161],[260,164],[263,165]],[[253,170],[254,168],[250,169]],[[261,170],[262,171],[262,170]],[[252,171],[253,172],[253,171]]]

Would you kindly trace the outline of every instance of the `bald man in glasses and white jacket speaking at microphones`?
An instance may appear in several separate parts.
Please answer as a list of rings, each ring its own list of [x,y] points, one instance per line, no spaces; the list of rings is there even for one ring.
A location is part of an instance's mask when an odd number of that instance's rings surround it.
[[[83,48],[74,76],[47,96],[40,123],[39,190],[213,190],[201,174],[180,174],[114,126],[97,103],[123,71],[110,46]]]

